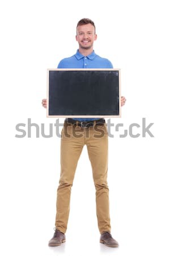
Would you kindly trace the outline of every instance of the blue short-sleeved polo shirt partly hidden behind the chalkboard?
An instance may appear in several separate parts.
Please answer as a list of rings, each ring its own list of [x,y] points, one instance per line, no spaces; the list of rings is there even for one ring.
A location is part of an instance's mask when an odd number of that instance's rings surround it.
[[[102,58],[92,51],[88,56],[82,55],[79,50],[75,55],[61,60],[57,68],[113,68],[111,61]],[[78,121],[93,121],[99,118],[73,118]]]

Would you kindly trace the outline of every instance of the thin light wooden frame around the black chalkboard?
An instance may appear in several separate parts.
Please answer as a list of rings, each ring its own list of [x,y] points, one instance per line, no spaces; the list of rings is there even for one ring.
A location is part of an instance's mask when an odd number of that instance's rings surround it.
[[[50,71],[118,71],[119,73],[119,115],[49,115],[49,72]],[[121,117],[121,69],[115,68],[56,68],[47,69],[47,106],[46,117],[64,117],[64,118],[105,118]]]

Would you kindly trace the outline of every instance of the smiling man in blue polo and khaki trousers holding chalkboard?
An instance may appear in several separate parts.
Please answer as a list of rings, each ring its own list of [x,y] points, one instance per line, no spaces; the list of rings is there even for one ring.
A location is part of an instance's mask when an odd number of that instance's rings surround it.
[[[96,39],[94,22],[90,19],[79,20],[76,27],[76,41],[79,49],[75,55],[61,60],[58,68],[113,68],[111,61],[101,58],[94,52],[93,46]],[[125,101],[125,97],[122,97],[121,105],[124,105]],[[46,108],[45,99],[42,100],[42,106]],[[102,138],[94,136],[95,126],[103,131]],[[87,129],[88,137],[86,137]],[[75,137],[73,134],[76,131],[83,136]],[[66,136],[66,133],[69,133],[70,137]],[[87,146],[96,188],[96,213],[101,234],[100,242],[107,246],[117,247],[118,242],[111,236],[109,216],[108,133],[105,120],[99,118],[68,118],[65,120],[61,138],[61,176],[57,189],[56,229],[53,238],[49,241],[49,246],[58,246],[66,241],[65,232],[69,218],[71,187],[84,144]]]

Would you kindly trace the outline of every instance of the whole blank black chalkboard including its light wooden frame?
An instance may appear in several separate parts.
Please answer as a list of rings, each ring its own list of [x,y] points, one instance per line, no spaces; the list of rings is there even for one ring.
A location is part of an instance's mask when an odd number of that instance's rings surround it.
[[[120,69],[48,69],[47,117],[120,117]]]

